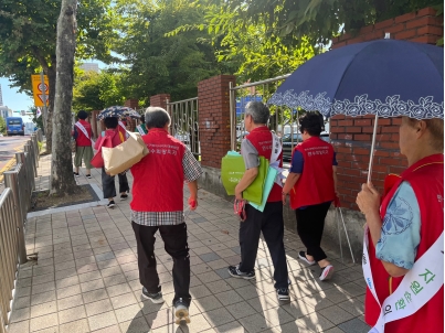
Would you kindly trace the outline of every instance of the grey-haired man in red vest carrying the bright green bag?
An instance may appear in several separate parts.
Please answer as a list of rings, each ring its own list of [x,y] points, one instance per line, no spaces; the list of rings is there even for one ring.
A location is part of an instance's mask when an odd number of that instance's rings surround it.
[[[243,191],[247,189],[258,174],[259,157],[275,161],[278,166],[283,166],[283,150],[280,141],[267,128],[271,111],[261,101],[250,101],[245,107],[244,125],[248,135],[241,143],[241,154],[244,158],[246,172],[235,187],[235,196],[243,200]],[[278,144],[278,148],[275,147]],[[277,151],[275,152],[275,149]],[[240,247],[241,262],[237,266],[230,266],[229,273],[234,278],[254,279],[255,260],[258,250],[259,235],[263,232],[264,239],[271,253],[274,264],[275,290],[279,301],[289,300],[288,271],[286,254],[284,248],[284,221],[282,205],[282,181],[274,183],[267,197],[264,211],[261,212],[250,205],[245,205],[246,218],[240,223]]]

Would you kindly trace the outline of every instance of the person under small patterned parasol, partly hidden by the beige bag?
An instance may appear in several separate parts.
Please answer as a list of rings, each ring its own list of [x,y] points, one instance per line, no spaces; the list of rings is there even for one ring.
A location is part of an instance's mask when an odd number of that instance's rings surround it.
[[[94,149],[99,149],[100,137],[109,137],[112,138],[112,146],[116,147],[123,143],[126,139],[125,136],[118,129],[118,118],[116,117],[107,117],[103,120],[104,126],[106,128],[99,136],[96,141]],[[130,190],[128,185],[128,179],[126,172],[119,173],[117,175],[119,179],[119,193],[120,201],[125,201],[128,198],[128,191]],[[107,208],[114,208],[116,206],[115,196],[116,196],[116,184],[115,176],[109,175],[105,172],[105,168],[102,168],[102,190],[104,192],[104,198],[108,198]]]

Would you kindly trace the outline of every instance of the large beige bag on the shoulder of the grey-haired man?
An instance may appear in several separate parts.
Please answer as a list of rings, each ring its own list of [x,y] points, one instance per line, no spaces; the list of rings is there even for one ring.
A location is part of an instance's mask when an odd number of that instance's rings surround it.
[[[116,175],[130,169],[148,154],[147,144],[139,133],[128,132],[128,139],[114,148],[102,149],[105,171],[109,175]]]

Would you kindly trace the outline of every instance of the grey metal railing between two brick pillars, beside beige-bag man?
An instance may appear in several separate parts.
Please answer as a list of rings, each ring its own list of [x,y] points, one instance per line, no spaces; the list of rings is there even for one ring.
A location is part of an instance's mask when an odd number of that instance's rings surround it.
[[[169,101],[167,111],[171,117],[171,136],[182,141],[197,160],[201,155],[198,97]]]

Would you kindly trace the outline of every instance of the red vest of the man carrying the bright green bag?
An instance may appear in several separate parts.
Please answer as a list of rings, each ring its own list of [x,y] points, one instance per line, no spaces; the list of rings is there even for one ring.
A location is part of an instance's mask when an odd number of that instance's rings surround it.
[[[266,126],[257,127],[252,130],[247,136],[246,139],[251,141],[253,147],[258,151],[261,157],[271,160],[272,155],[272,132]],[[279,168],[283,168],[283,151],[279,154]],[[271,193],[267,197],[267,202],[278,202],[282,201],[282,192],[283,187],[277,184],[271,190]]]

